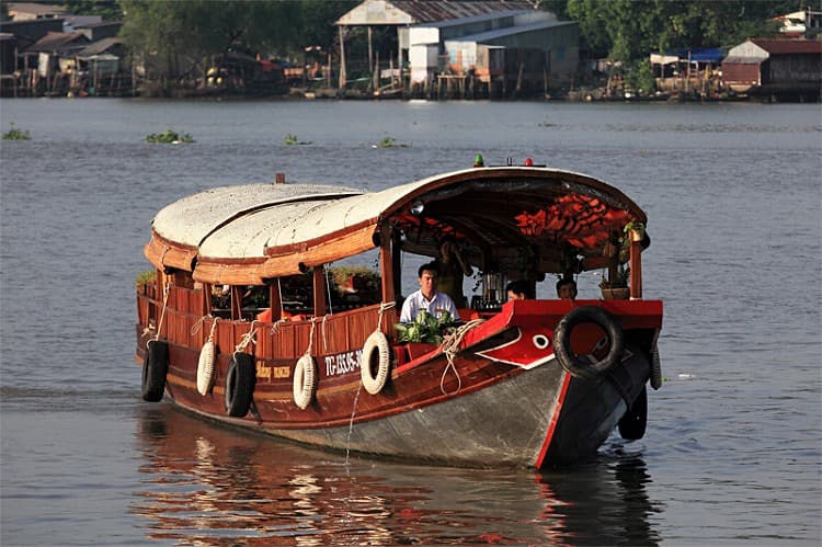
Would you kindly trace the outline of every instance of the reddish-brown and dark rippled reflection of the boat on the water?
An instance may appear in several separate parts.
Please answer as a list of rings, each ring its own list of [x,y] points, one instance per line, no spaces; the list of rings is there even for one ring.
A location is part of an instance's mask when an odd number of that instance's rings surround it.
[[[651,478],[617,446],[574,469],[453,469],[351,458],[139,408],[149,539],[186,545],[653,545]]]

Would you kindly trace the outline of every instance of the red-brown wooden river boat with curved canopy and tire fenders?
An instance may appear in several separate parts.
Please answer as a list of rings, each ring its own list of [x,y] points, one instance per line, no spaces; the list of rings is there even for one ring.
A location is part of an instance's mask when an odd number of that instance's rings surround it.
[[[618,190],[533,166],[372,193],[282,182],[194,194],[157,214],[145,247],[156,272],[137,290],[142,397],[416,463],[589,458],[615,428],[643,435],[646,385],[661,384],[646,224]],[[442,344],[400,342],[401,289],[416,284],[403,263],[435,257],[445,235],[483,273],[481,294]],[[333,280],[340,263],[373,264],[372,286]],[[623,263],[630,298],[501,301],[505,280],[614,278]]]

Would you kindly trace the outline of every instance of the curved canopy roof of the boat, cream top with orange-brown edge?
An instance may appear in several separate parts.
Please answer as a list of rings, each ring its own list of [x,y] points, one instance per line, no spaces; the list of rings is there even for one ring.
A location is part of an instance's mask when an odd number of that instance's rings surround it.
[[[208,283],[261,284],[374,249],[377,232],[435,255],[453,235],[475,264],[528,255],[543,272],[569,255],[603,265],[614,231],[644,213],[618,190],[568,171],[478,168],[380,192],[316,184],[225,186],[180,200],[152,223],[146,257]],[[584,260],[583,260],[584,259]]]

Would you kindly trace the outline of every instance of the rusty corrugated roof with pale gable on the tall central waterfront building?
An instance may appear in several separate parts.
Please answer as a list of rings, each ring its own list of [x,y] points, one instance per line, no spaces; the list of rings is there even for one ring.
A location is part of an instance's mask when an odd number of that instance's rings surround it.
[[[425,1],[425,0],[365,0],[363,3],[341,16],[338,25],[379,25],[398,24],[379,19],[380,11],[391,8],[406,13],[409,23],[432,23],[452,19],[472,18],[504,11],[534,10],[534,7],[521,0],[469,0],[469,1]],[[366,16],[367,15],[367,16]]]

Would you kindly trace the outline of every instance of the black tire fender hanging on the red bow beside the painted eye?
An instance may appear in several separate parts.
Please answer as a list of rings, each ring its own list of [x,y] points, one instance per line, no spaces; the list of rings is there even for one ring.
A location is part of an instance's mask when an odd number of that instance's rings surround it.
[[[582,323],[597,324],[608,337],[610,349],[603,358],[582,358],[571,351],[571,333]],[[591,380],[602,377],[621,361],[624,351],[623,328],[614,316],[598,306],[580,306],[572,309],[559,320],[553,330],[553,354],[562,368],[576,378]]]

